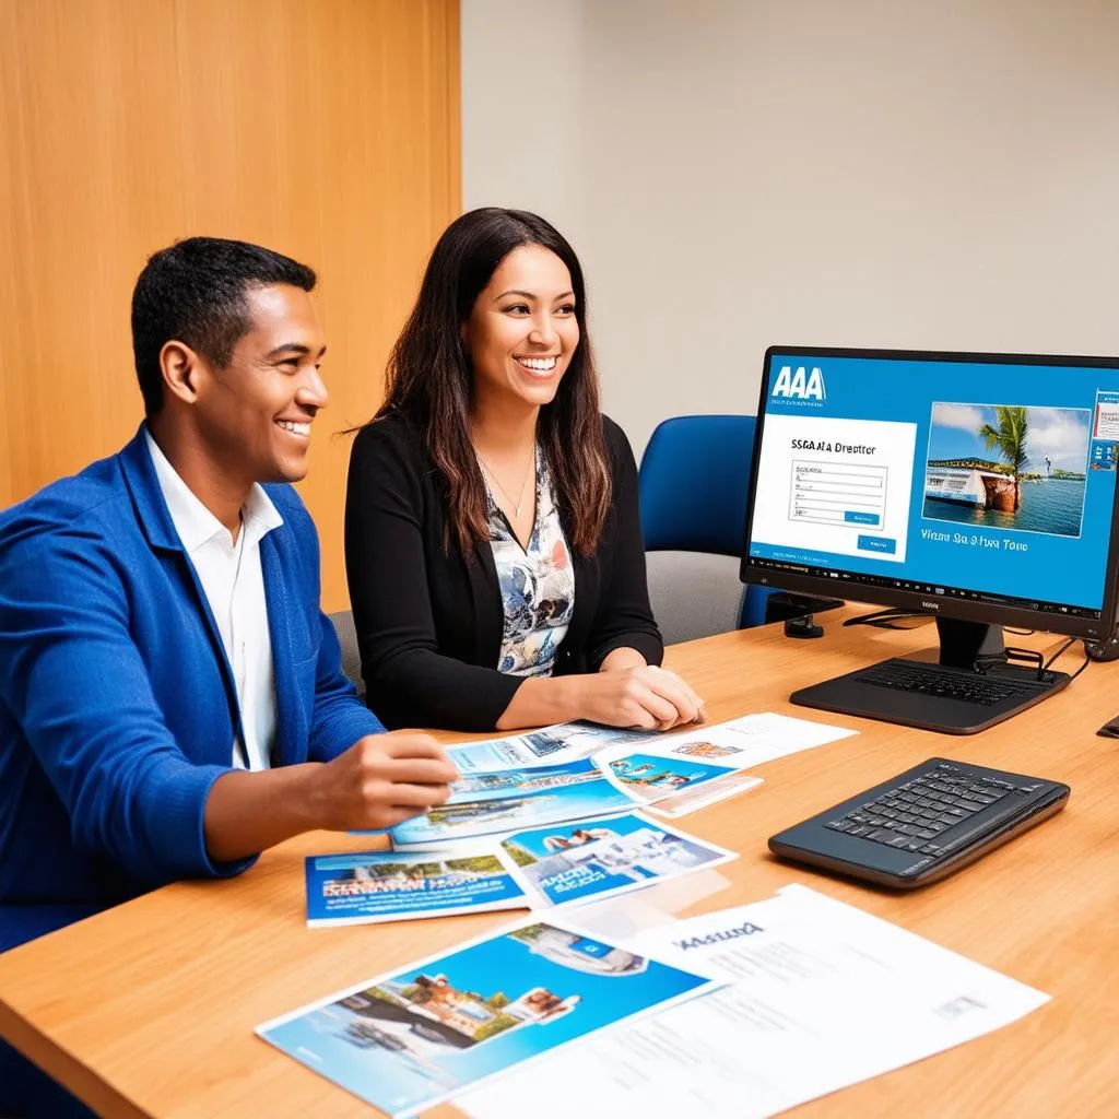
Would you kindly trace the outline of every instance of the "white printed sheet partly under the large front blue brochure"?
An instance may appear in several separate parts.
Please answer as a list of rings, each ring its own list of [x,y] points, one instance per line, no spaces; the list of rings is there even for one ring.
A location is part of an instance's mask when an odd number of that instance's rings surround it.
[[[1005,1026],[1049,996],[803,886],[627,943],[730,981],[463,1096],[474,1119],[761,1119]],[[542,1092],[540,1085],[548,1085]]]

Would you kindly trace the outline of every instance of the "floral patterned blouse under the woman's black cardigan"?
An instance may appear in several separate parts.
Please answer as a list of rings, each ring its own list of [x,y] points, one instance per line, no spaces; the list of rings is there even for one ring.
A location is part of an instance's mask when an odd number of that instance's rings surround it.
[[[536,449],[536,519],[527,548],[509,527],[488,483],[487,493],[490,546],[505,613],[497,667],[514,676],[551,676],[575,609],[575,572],[540,449]]]

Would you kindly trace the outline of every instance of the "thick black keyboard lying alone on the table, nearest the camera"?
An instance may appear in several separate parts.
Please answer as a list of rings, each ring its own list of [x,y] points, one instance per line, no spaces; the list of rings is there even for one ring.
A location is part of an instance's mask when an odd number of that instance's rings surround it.
[[[1069,787],[930,758],[770,839],[799,862],[909,888],[935,882],[1059,811]]]

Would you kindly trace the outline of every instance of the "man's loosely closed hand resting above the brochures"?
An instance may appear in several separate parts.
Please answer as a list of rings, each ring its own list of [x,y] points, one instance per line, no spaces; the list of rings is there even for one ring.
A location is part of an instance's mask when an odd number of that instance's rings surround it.
[[[442,805],[458,775],[430,734],[369,734],[318,770],[314,814],[335,831],[391,828]]]

